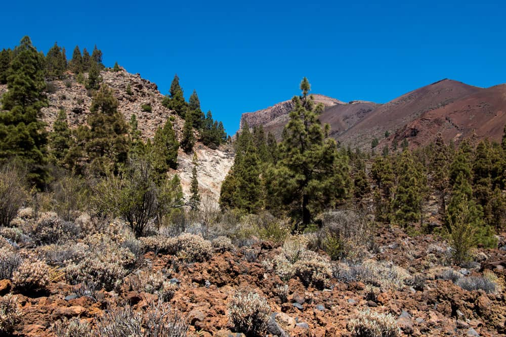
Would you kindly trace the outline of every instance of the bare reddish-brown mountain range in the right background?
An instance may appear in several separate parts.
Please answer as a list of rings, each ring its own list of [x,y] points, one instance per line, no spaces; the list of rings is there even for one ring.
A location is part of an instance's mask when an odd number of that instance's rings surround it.
[[[315,101],[320,96],[315,95]],[[380,146],[390,146],[394,140],[400,142],[404,138],[408,138],[413,147],[426,145],[438,132],[445,140],[459,141],[471,135],[499,140],[506,123],[505,100],[506,85],[480,88],[444,79],[385,104],[343,103],[327,98],[327,102],[334,104],[326,105],[320,121],[330,124],[330,135],[336,140],[361,149],[370,149],[374,138],[379,140]],[[287,102],[243,114],[241,122],[263,124],[280,139],[291,108]],[[387,138],[386,131],[390,134]]]

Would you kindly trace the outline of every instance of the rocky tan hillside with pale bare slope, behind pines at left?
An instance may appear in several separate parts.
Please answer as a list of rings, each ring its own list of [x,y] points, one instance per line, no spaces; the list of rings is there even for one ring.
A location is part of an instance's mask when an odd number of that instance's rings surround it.
[[[155,83],[124,69],[118,72],[104,70],[100,75],[104,83],[113,89],[119,102],[118,111],[123,114],[125,120],[128,122],[133,114],[136,115],[142,138],[146,140],[153,137],[156,129],[170,118],[176,135],[181,140],[184,120],[174,111],[162,106],[163,95]],[[90,113],[91,91],[78,83],[73,74],[68,73],[67,77],[65,80],[48,83],[46,93],[49,107],[42,109],[42,119],[48,124],[48,130],[52,129],[61,109],[67,112],[67,121],[71,128],[85,124]],[[127,92],[129,85],[130,93]],[[7,85],[0,84],[0,95],[6,91]],[[150,105],[151,111],[144,111],[143,105]],[[220,197],[221,183],[234,161],[233,151],[227,146],[212,150],[200,142],[195,144],[194,150],[199,159],[198,182],[202,200],[216,204]],[[178,169],[171,172],[179,174],[185,196],[190,195],[192,157],[192,154],[187,155],[179,149]]]

